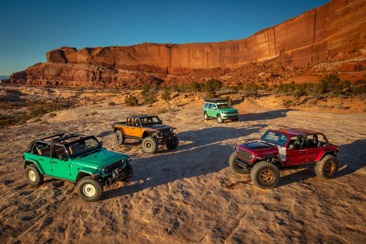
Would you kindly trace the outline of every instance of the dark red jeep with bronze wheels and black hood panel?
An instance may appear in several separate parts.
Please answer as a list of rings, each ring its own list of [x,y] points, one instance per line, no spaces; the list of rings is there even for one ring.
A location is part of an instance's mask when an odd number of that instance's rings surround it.
[[[277,185],[279,170],[314,168],[325,180],[338,171],[337,153],[340,148],[330,144],[321,132],[305,129],[267,130],[260,141],[234,147],[229,159],[238,174],[250,173],[254,185],[270,189]]]

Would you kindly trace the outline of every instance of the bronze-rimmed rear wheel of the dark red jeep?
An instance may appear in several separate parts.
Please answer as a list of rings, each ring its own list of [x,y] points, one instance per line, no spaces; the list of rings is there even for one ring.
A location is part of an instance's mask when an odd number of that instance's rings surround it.
[[[325,155],[314,167],[315,174],[324,180],[333,179],[337,174],[338,166],[339,163],[336,156],[330,154]]]

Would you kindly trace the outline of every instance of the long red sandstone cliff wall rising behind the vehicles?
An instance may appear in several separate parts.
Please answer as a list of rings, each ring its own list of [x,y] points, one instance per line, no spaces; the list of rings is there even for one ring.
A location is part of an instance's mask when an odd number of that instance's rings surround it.
[[[305,66],[365,59],[366,2],[333,0],[242,40],[79,50],[61,47],[47,52],[46,57],[48,62],[14,73],[3,82],[138,86],[161,84],[194,69],[235,69],[250,63]]]

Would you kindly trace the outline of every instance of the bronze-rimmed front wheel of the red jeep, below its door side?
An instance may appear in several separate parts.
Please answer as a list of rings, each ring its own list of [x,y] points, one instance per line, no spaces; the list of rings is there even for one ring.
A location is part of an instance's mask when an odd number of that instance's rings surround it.
[[[275,164],[261,161],[254,164],[250,171],[250,178],[259,189],[271,189],[277,185],[280,171]]]

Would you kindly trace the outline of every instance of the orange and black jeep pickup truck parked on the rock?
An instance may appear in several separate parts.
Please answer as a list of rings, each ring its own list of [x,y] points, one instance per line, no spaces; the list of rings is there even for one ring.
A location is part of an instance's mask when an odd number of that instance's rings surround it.
[[[141,115],[127,117],[126,121],[115,122],[112,125],[115,141],[124,144],[125,138],[142,141],[143,151],[153,154],[158,145],[165,145],[168,149],[175,149],[179,145],[179,138],[173,132],[175,127],[163,125],[157,116]]]

